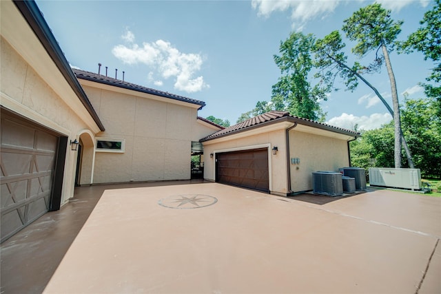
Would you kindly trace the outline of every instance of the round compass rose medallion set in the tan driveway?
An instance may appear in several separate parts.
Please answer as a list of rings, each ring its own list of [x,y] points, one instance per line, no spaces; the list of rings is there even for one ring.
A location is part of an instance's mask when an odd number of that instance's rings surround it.
[[[174,209],[194,209],[202,208],[215,204],[218,202],[217,198],[202,194],[185,194],[185,195],[172,195],[162,198],[158,201],[158,204]]]

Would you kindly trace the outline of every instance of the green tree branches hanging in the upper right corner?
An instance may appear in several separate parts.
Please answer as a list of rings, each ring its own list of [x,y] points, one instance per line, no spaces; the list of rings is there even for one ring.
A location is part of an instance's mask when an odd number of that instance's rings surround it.
[[[424,60],[435,62],[431,75],[426,78],[435,85],[422,83],[422,86],[428,97],[438,100],[437,107],[441,112],[441,0],[435,0],[435,6],[424,14],[420,25],[422,26],[410,34],[407,41],[400,43],[400,48],[406,53],[418,50],[424,54]]]

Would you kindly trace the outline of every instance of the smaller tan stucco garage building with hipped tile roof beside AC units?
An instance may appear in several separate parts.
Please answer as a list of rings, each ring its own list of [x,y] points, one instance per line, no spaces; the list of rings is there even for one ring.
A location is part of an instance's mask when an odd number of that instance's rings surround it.
[[[350,166],[349,142],[359,135],[267,112],[201,139],[205,178],[280,196],[310,191],[312,172]]]

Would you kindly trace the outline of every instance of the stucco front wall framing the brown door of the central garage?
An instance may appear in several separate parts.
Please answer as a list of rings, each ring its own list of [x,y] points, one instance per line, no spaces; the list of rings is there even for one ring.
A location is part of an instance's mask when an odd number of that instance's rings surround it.
[[[245,136],[245,133],[244,133]],[[227,138],[227,137],[226,137]],[[269,144],[269,149],[274,146],[278,147],[278,153],[270,156],[269,174],[271,176],[271,193],[278,193],[281,195],[287,194],[287,160],[285,148],[285,129],[278,129],[271,132],[264,132],[263,134],[255,134],[252,136],[245,136],[243,138],[234,138],[225,142],[213,143],[207,141],[204,145],[204,178],[207,180],[215,180],[214,175],[214,158],[210,158],[209,154],[226,149],[251,149],[256,145]]]

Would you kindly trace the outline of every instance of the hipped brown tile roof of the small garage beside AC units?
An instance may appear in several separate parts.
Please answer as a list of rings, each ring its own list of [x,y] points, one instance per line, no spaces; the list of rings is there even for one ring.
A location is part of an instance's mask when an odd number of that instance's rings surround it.
[[[232,125],[231,127],[226,127],[220,131],[202,138],[200,141],[205,142],[208,140],[213,140],[215,138],[220,138],[224,136],[229,136],[238,132],[244,132],[247,129],[254,129],[255,127],[263,127],[268,123],[277,123],[279,121],[290,121],[292,123],[298,123],[300,125],[309,125],[310,127],[316,127],[318,129],[327,129],[331,132],[336,132],[340,134],[346,134],[349,136],[360,136],[360,133],[353,132],[349,129],[342,129],[341,127],[334,127],[332,125],[327,125],[325,123],[318,123],[314,120],[309,120],[307,118],[300,118],[298,116],[290,116],[289,112],[278,112],[272,111],[265,114],[260,114],[254,118],[249,118],[242,123]]]

